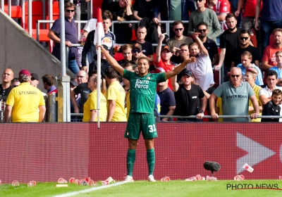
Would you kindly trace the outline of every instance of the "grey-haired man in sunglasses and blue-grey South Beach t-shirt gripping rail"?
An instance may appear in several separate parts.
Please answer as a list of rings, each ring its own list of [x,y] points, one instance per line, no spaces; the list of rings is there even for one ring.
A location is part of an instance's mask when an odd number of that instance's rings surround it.
[[[241,82],[242,72],[240,68],[234,67],[230,72],[231,81],[221,84],[209,97],[209,109],[212,117],[218,119],[215,112],[216,98],[221,97],[222,115],[248,115],[249,99],[252,102],[254,113],[251,118],[257,119],[259,115],[259,103],[255,92],[247,82]],[[223,122],[249,122],[247,118],[223,118]]]

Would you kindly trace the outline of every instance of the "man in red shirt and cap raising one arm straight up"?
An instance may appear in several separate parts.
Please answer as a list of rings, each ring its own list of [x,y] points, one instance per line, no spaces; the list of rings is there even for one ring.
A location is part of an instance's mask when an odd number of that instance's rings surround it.
[[[168,72],[174,69],[174,65],[171,63],[171,56],[172,53],[168,46],[164,46],[163,49],[161,49],[161,44],[164,41],[164,34],[161,34],[159,36],[159,43],[156,49],[156,59],[154,64],[154,72]],[[171,85],[171,79],[168,79],[168,87],[172,89]]]

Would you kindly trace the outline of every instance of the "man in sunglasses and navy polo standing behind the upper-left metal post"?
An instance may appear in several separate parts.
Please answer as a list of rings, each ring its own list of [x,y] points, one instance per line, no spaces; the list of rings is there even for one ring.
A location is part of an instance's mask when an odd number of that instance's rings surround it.
[[[65,4],[65,45],[70,49],[68,51],[68,68],[77,75],[80,70],[78,63],[76,63],[75,56],[78,54],[78,48],[71,47],[72,44],[78,44],[78,30],[75,26],[75,21],[73,20],[73,15],[75,14],[75,4],[68,2]],[[54,21],[53,26],[49,30],[49,39],[55,42],[52,54],[61,61],[61,49],[60,49],[60,32],[61,32],[61,22],[60,18]]]

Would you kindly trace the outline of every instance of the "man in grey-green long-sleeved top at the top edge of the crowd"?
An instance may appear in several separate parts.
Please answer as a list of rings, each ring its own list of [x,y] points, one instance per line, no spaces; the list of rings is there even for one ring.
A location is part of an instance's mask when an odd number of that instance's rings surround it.
[[[207,23],[209,33],[207,36],[216,42],[216,37],[221,34],[221,27],[219,25],[219,20],[217,19],[216,13],[211,9],[205,8],[204,4],[206,0],[194,0],[197,6],[197,10],[190,14],[189,25],[188,25],[188,35],[197,34],[197,25],[201,22]]]

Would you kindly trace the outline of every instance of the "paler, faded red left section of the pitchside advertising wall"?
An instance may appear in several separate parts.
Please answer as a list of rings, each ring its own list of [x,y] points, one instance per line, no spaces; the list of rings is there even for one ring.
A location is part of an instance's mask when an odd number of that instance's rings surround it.
[[[2,183],[87,177],[87,123],[1,124],[0,130]]]

